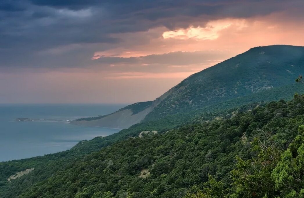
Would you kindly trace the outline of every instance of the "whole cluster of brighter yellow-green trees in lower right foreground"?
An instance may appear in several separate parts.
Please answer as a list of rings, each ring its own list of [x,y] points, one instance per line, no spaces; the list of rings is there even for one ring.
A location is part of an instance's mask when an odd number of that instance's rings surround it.
[[[271,139],[265,144],[256,138],[252,144],[257,157],[237,157],[232,197],[304,198],[304,125],[298,131],[301,135],[281,154]]]

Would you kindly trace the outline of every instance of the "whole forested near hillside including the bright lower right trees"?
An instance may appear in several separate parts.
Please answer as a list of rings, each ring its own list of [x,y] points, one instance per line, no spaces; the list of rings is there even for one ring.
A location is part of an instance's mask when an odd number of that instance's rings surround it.
[[[296,94],[227,119],[116,142],[52,175],[33,170],[5,185],[2,197],[299,197],[303,123],[304,96]],[[45,178],[31,184],[39,176]]]

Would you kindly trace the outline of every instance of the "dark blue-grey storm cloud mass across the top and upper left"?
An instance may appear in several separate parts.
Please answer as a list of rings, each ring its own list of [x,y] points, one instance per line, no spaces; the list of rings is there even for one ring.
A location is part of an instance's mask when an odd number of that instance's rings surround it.
[[[120,42],[111,36],[113,33],[158,26],[175,29],[301,6],[302,1],[280,0],[2,0],[0,67],[84,67],[93,64],[90,58],[95,51]],[[78,45],[77,49],[47,53],[73,45]]]

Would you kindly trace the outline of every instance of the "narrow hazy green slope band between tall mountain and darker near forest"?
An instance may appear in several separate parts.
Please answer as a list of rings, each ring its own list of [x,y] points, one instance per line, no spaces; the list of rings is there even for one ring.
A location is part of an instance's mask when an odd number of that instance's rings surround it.
[[[304,86],[302,84],[294,83],[243,97],[237,97],[222,103],[196,108],[194,110],[189,109],[188,111],[178,112],[175,114],[172,113],[162,117],[147,117],[140,126],[151,126],[152,128],[147,128],[149,130],[161,130],[162,128],[171,129],[177,126],[183,126],[185,123],[191,123],[194,119],[197,121],[198,117],[199,121],[212,120],[216,117],[225,117],[229,111],[237,110],[240,105],[244,104],[255,104],[256,102],[264,103],[269,101],[278,101],[280,99],[290,100],[295,92],[304,93]]]

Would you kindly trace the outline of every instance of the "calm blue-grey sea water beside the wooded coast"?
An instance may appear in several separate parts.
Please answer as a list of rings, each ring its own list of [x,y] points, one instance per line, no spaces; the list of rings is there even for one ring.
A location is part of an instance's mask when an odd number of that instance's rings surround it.
[[[64,151],[80,140],[119,131],[75,126],[68,122],[17,122],[16,118],[72,120],[109,114],[124,106],[125,104],[0,104],[0,162]]]

